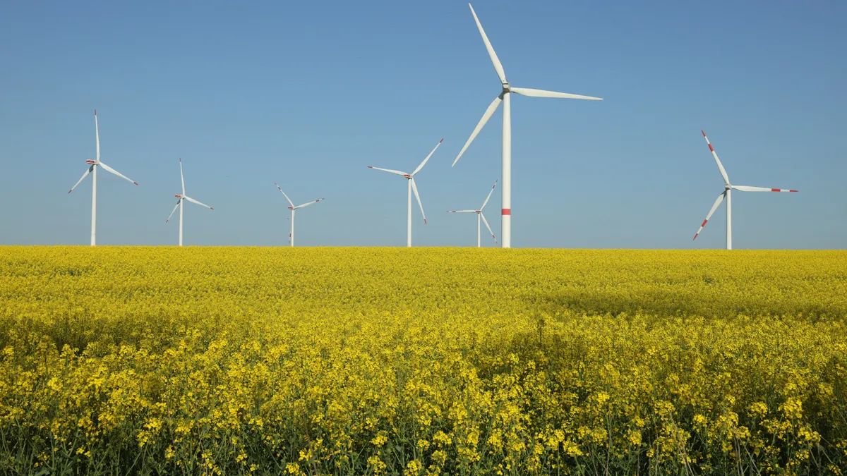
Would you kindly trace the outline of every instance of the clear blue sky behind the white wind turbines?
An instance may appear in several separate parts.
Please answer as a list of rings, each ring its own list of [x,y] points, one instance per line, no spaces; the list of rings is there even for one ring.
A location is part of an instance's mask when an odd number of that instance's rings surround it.
[[[474,4],[513,86],[512,246],[713,248],[692,241],[722,180],[799,189],[733,198],[735,248],[847,242],[847,3]],[[0,244],[87,244],[95,152],[141,184],[98,182],[97,241],[473,246],[501,174],[501,113],[451,163],[499,92],[463,2],[9,3],[0,16]],[[486,210],[500,234],[500,193]],[[493,241],[485,240],[486,246]]]

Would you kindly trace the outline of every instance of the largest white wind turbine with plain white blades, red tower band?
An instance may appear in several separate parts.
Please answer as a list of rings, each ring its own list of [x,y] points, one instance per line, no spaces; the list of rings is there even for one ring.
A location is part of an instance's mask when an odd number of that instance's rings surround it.
[[[494,98],[494,101],[491,102],[488,109],[485,110],[485,113],[482,116],[482,119],[479,119],[479,124],[471,133],[468,141],[465,142],[465,147],[462,147],[462,151],[457,155],[456,160],[453,161],[453,165],[459,161],[459,158],[462,157],[462,154],[465,153],[465,150],[468,149],[468,146],[473,142],[473,138],[479,134],[479,130],[482,130],[483,126],[488,119],[494,115],[495,111],[498,107],[500,107],[500,103],[503,103],[503,145],[502,145],[502,155],[503,155],[503,187],[502,187],[502,210],[501,210],[501,234],[503,235],[503,247],[511,248],[512,247],[512,105],[510,101],[511,93],[515,92],[522,96],[532,96],[532,97],[563,97],[566,99],[592,99],[596,101],[600,101],[601,97],[590,97],[590,96],[580,96],[579,94],[568,94],[567,92],[555,92],[555,91],[542,91],[540,89],[528,89],[525,87],[512,87],[509,84],[509,81],[506,80],[506,72],[503,71],[503,65],[500,64],[500,59],[497,58],[497,54],[494,53],[494,47],[491,47],[491,42],[488,41],[488,36],[485,36],[485,31],[482,29],[482,24],[479,23],[479,19],[476,16],[476,12],[473,11],[473,6],[468,3],[468,7],[471,8],[471,14],[473,14],[473,19],[476,21],[477,28],[479,29],[479,35],[482,36],[482,41],[485,43],[485,49],[488,50],[488,56],[491,58],[491,63],[494,64],[494,69],[497,72],[497,77],[500,79],[502,85],[502,91]]]

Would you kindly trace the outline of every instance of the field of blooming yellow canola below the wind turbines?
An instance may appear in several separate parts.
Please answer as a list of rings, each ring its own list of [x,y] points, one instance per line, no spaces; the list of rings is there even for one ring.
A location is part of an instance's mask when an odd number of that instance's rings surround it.
[[[0,247],[3,474],[840,474],[847,252]]]

